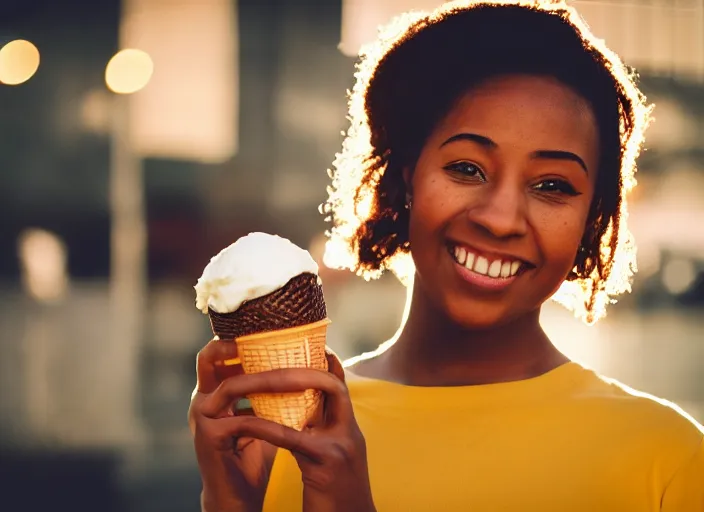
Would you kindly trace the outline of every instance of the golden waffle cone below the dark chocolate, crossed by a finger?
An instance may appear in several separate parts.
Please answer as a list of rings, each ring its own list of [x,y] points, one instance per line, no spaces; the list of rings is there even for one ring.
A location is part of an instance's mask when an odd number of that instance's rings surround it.
[[[245,373],[281,368],[327,370],[325,337],[330,320],[290,329],[279,329],[237,338],[237,352]],[[254,413],[270,421],[302,430],[315,413],[322,393],[308,389],[297,393],[270,393],[247,397]]]

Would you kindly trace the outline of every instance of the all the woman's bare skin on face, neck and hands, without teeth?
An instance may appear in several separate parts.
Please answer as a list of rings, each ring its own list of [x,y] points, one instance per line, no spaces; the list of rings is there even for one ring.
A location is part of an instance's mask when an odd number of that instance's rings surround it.
[[[456,138],[467,133],[473,140]],[[395,345],[352,371],[447,386],[524,379],[564,363],[540,327],[539,312],[573,266],[598,159],[591,109],[560,83],[504,76],[468,91],[432,132],[415,168],[404,173],[417,268],[406,324]],[[526,269],[505,289],[487,291],[460,277],[448,243],[511,255]],[[261,510],[276,446],[298,461],[304,510],[375,510],[364,438],[337,360],[330,359],[331,373],[242,375],[238,367],[218,365],[234,352],[233,343],[212,341],[198,360],[189,418],[203,510]],[[309,388],[325,392],[326,411],[304,432],[229,412],[247,393]],[[239,437],[234,451],[233,436]]]

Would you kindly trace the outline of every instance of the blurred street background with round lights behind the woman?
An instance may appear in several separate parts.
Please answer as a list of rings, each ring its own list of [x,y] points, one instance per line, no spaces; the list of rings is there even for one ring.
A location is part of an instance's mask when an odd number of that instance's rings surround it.
[[[198,510],[186,424],[209,339],[193,285],[250,231],[322,258],[355,55],[433,0],[0,0],[0,509]],[[656,122],[633,293],[587,365],[704,420],[704,0],[572,2],[642,75]],[[398,326],[404,288],[325,270],[330,345]],[[9,508],[8,508],[9,509]]]

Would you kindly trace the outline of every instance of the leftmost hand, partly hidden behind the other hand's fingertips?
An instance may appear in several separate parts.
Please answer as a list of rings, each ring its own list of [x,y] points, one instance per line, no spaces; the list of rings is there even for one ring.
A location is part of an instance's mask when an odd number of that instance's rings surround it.
[[[203,480],[203,512],[261,511],[276,447],[259,439],[226,436],[226,424],[204,421],[203,403],[223,380],[241,375],[240,365],[223,361],[237,357],[232,341],[210,341],[198,354],[197,385],[188,410],[196,458]],[[218,417],[232,417],[232,401]],[[225,437],[224,437],[225,436]]]

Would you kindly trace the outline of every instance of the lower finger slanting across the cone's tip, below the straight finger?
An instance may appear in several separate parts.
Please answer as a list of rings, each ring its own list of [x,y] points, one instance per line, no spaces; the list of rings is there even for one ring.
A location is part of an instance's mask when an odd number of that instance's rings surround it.
[[[325,450],[322,443],[315,442],[315,438],[305,432],[299,432],[273,421],[257,418],[256,416],[230,416],[217,420],[206,420],[208,423],[208,437],[220,450],[233,448],[233,439],[236,439],[236,449],[242,449],[251,441],[259,439],[274,446],[300,453],[315,461],[322,460]]]

